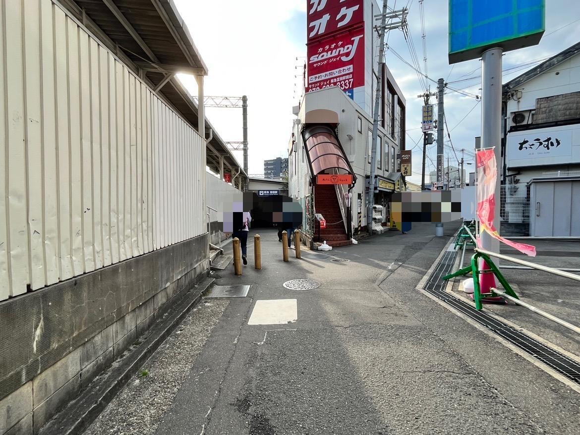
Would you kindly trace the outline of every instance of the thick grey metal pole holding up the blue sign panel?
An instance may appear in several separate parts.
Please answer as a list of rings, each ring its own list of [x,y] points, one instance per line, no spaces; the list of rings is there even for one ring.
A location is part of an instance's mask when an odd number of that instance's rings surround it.
[[[499,182],[501,165],[501,113],[502,113],[502,49],[492,48],[481,56],[481,147],[495,147],[497,180],[495,183],[495,216],[496,229],[500,227],[500,192]],[[485,231],[481,234],[481,248],[499,253],[499,241]]]

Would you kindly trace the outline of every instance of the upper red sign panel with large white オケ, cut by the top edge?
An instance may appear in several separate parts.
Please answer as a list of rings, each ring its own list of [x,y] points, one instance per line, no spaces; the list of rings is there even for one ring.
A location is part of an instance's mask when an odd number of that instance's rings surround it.
[[[363,0],[306,0],[308,42],[361,24]]]

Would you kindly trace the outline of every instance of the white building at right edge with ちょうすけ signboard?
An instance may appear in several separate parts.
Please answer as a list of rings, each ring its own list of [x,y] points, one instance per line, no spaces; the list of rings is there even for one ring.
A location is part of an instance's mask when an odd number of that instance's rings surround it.
[[[580,235],[580,43],[503,85],[502,220]]]

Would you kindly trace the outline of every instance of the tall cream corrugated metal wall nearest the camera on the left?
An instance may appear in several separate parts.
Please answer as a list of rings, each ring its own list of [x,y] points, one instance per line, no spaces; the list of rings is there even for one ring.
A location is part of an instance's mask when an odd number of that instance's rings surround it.
[[[1,18],[0,300],[205,233],[201,136],[50,0]]]

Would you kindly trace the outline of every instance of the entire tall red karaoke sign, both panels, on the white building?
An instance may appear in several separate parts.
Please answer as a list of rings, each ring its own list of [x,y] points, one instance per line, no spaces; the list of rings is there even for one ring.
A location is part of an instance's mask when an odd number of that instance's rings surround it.
[[[363,0],[307,0],[306,92],[364,88]]]

